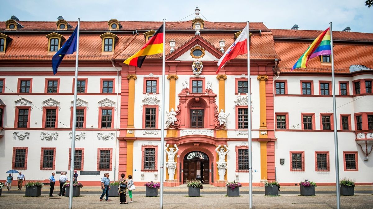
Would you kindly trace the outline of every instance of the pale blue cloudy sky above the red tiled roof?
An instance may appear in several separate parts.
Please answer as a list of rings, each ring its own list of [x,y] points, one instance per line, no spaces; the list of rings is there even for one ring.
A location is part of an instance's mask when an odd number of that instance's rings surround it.
[[[21,21],[185,21],[200,17],[210,22],[263,22],[269,29],[373,33],[373,7],[365,0],[0,0],[0,21],[12,15]],[[6,8],[6,9],[5,9]]]

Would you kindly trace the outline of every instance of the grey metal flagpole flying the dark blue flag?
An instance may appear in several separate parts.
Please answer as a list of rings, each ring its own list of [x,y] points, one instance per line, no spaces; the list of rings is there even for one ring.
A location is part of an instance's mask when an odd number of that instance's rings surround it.
[[[75,158],[75,129],[76,129],[76,93],[78,86],[78,54],[79,54],[79,26],[80,18],[78,18],[78,34],[76,37],[76,58],[75,58],[75,88],[74,88],[74,105],[72,110],[72,138],[71,138],[71,158],[70,158],[70,190],[69,190],[69,209],[72,209],[72,192],[74,182],[74,158]]]

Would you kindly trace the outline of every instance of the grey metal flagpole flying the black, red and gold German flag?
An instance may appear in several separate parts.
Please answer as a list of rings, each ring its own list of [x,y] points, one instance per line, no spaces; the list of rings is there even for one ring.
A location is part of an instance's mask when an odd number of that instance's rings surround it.
[[[166,43],[165,42],[166,40],[166,19],[163,19],[163,60],[162,60],[162,108],[163,108],[163,111],[162,111],[162,114],[161,114],[161,192],[160,192],[160,201],[159,201],[159,208],[160,209],[163,209],[163,165],[164,165],[164,79],[166,79],[166,76],[164,75],[164,60],[165,60],[165,56],[164,56],[164,44]]]

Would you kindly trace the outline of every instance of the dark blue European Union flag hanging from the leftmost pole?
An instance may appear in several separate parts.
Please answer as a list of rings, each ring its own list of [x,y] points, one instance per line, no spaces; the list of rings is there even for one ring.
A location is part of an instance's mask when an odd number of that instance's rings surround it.
[[[62,62],[63,57],[65,57],[65,54],[73,54],[76,52],[76,39],[78,38],[78,27],[75,28],[72,35],[69,37],[69,39],[65,42],[65,44],[56,52],[55,55],[53,55],[52,58],[52,68],[53,68],[53,74],[55,75],[57,73],[57,68]]]

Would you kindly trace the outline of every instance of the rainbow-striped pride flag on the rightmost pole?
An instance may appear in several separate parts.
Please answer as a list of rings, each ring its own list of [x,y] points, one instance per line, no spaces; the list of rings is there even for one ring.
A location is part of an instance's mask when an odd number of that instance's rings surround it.
[[[306,68],[307,61],[320,55],[332,54],[332,48],[330,46],[330,28],[327,28],[323,33],[319,35],[308,47],[307,51],[299,58],[291,70],[295,68]]]

